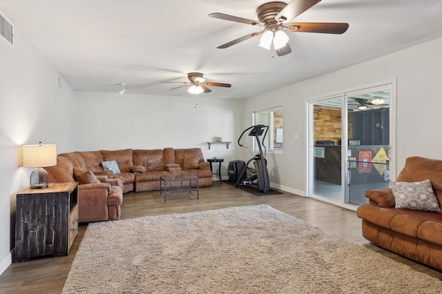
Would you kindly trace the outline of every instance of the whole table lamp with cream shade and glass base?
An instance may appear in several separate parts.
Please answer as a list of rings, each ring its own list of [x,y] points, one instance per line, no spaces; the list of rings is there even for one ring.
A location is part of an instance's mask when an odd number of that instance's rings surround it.
[[[23,166],[36,168],[30,174],[30,188],[48,188],[49,176],[45,166],[57,165],[57,146],[55,145],[23,145]]]

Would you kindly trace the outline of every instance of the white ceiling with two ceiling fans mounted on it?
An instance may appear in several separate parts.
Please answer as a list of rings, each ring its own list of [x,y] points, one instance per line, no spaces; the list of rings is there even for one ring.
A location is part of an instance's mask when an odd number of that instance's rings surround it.
[[[294,0],[296,1],[296,0]],[[289,33],[291,54],[259,37],[217,46],[257,29],[208,17],[257,19],[258,0],[0,0],[0,10],[74,90],[191,97],[187,72],[202,72],[204,97],[244,99],[442,37],[441,0],[323,0],[296,21],[346,22],[343,35]],[[287,1],[288,3],[288,1]]]

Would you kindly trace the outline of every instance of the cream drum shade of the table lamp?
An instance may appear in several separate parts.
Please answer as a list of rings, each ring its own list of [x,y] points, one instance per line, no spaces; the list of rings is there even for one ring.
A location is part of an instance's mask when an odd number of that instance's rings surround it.
[[[55,145],[23,145],[23,166],[42,168],[57,165],[57,146]]]

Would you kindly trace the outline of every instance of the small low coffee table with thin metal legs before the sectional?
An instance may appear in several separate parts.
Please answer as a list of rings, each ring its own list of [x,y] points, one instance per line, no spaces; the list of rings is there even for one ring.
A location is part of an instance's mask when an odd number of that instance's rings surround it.
[[[200,182],[199,177],[195,175],[161,175],[160,176],[160,196],[164,191],[164,203],[167,201],[167,195],[173,192],[186,191],[192,193],[193,188],[191,181],[196,181],[196,199],[200,199]],[[171,183],[181,182],[180,186],[173,186]],[[169,184],[169,185],[168,185]]]

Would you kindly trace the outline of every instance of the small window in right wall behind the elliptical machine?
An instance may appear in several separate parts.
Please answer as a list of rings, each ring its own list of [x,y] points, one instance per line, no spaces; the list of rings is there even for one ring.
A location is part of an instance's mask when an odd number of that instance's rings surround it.
[[[269,131],[264,140],[264,145],[267,150],[282,150],[283,135],[282,135],[282,108],[272,108],[272,110],[261,110],[253,112],[254,124],[263,124],[269,126]],[[262,140],[262,137],[260,137]],[[253,149],[258,148],[253,142]]]

